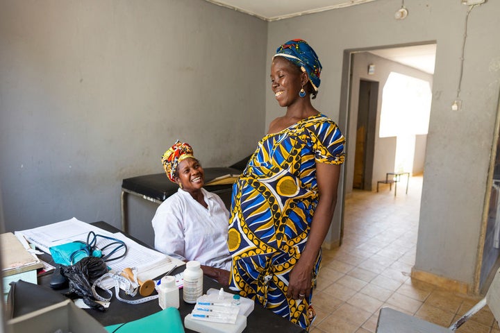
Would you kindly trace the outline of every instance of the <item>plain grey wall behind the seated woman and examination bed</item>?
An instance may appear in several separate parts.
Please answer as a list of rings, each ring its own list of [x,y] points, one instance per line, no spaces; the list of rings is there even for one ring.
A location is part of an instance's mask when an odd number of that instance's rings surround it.
[[[201,0],[0,8],[6,230],[72,216],[119,227],[122,179],[163,172],[176,139],[215,167],[264,134],[267,22]],[[153,212],[132,213],[135,236]]]

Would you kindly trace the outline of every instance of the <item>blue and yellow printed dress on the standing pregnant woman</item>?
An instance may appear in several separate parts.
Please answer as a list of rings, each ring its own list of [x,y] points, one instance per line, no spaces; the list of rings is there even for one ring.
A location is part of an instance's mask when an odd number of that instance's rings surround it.
[[[287,299],[288,277],[306,246],[319,200],[316,163],[342,164],[344,141],[323,114],[303,119],[263,137],[233,186],[231,289],[306,329],[313,319],[312,292],[309,299]],[[321,250],[313,279],[320,261]]]

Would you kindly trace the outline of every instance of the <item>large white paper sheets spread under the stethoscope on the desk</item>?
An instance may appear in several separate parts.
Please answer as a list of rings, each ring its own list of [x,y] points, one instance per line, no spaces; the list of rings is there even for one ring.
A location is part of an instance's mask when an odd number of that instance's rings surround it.
[[[128,250],[127,254],[121,259],[107,262],[112,271],[120,272],[124,268],[137,268],[138,279],[153,280],[158,276],[167,273],[172,268],[182,266],[183,261],[160,253],[146,246],[129,239],[121,232],[111,233],[97,228],[94,225],[79,221],[78,219],[69,219],[58,223],[44,225],[42,227],[16,231],[16,234],[22,234],[31,244],[45,253],[50,253],[49,248],[60,244],[66,244],[72,241],[87,241],[87,235],[93,231],[95,234],[101,234],[106,237],[113,237],[124,241]],[[99,237],[97,239],[97,248],[103,248],[112,240]]]

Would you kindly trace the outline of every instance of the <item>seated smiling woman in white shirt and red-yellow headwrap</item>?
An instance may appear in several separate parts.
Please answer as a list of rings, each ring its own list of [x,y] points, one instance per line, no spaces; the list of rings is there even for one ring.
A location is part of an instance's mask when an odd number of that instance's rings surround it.
[[[227,286],[231,255],[226,206],[217,194],[203,189],[203,168],[189,144],[177,141],[163,154],[162,163],[179,189],[153,217],[156,250],[185,262],[197,260],[205,275]]]

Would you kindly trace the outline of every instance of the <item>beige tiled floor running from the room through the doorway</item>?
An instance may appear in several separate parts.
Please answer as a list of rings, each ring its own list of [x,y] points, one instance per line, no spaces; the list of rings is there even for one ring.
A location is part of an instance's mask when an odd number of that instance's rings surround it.
[[[343,244],[323,252],[313,296],[317,318],[310,332],[375,332],[381,307],[449,327],[479,300],[410,278],[422,177],[410,178],[408,194],[399,185],[397,197],[394,187],[389,191],[381,185],[378,193],[354,191],[346,200]],[[456,332],[500,329],[485,307]]]

